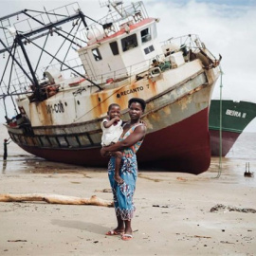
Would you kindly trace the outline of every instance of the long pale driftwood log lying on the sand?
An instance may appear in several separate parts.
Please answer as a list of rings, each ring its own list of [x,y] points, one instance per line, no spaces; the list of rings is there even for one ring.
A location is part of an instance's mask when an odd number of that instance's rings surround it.
[[[48,204],[60,205],[93,205],[102,207],[113,207],[112,201],[104,200],[96,195],[91,198],[80,198],[76,196],[67,196],[50,193],[28,193],[28,194],[10,194],[0,193],[0,202],[26,202],[26,201],[45,201]]]

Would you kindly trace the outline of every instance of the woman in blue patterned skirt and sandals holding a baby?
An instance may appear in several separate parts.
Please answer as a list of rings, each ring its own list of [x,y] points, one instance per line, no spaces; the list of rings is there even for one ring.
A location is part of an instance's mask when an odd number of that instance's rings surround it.
[[[119,142],[108,147],[101,148],[101,155],[111,155],[112,152],[121,151],[123,153],[119,175],[123,183],[119,184],[114,179],[115,157],[110,158],[108,163],[108,176],[112,192],[114,195],[114,206],[118,220],[118,227],[110,230],[106,235],[121,235],[122,240],[133,238],[131,226],[135,211],[133,196],[137,181],[137,157],[143,138],[146,135],[146,126],[140,121],[144,113],[146,102],[142,99],[133,98],[128,103],[130,120],[123,126],[123,133]]]

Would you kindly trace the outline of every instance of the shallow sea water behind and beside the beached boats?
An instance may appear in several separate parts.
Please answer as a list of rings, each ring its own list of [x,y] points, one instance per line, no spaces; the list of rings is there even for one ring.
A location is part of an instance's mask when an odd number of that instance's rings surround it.
[[[0,175],[1,174],[26,174],[46,172],[79,172],[83,167],[46,161],[35,155],[30,155],[14,142],[8,145],[8,160],[3,161],[4,139],[9,138],[7,128],[0,124]],[[243,133],[230,149],[226,157],[211,157],[209,173],[213,176],[225,174],[229,182],[244,183],[256,187],[256,133]],[[246,168],[255,177],[245,177]],[[2,169],[2,171],[1,171]],[[97,171],[97,169],[94,168]],[[102,169],[99,169],[102,171]],[[142,171],[142,170],[140,170]],[[199,175],[200,176],[200,175]],[[227,180],[227,182],[228,182]]]

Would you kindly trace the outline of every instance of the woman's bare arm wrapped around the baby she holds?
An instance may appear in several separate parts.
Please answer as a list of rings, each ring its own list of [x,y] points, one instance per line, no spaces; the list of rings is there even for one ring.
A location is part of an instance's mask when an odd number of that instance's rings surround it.
[[[101,155],[105,156],[106,153],[108,152],[115,152],[136,144],[137,141],[141,140],[146,135],[146,131],[147,131],[147,128],[145,125],[137,126],[135,131],[130,136],[126,137],[124,140],[119,141],[107,147],[102,147]]]

